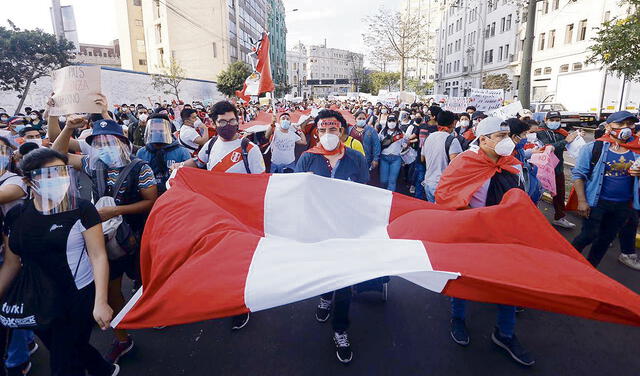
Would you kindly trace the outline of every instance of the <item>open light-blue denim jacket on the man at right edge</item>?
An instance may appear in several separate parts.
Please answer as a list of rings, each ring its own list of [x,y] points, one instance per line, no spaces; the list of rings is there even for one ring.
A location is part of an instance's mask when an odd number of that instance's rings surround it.
[[[581,179],[585,181],[585,195],[587,196],[587,202],[590,207],[596,207],[598,200],[600,199],[600,191],[602,190],[602,181],[604,180],[604,163],[607,153],[609,153],[609,142],[604,142],[602,146],[602,154],[598,163],[593,167],[593,173],[590,175],[591,169],[591,155],[593,154],[594,142],[590,142],[580,149],[580,154],[576,160],[576,166],[571,170],[571,176],[573,180]],[[633,154],[636,160],[640,158],[640,155]],[[640,201],[638,199],[638,179],[633,179],[633,208],[640,210]]]

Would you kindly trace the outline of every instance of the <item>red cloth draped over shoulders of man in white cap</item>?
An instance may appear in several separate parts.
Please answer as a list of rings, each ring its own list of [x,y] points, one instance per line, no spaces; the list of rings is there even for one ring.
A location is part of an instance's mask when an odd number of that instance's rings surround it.
[[[436,203],[453,209],[469,206],[473,194],[487,179],[503,170],[512,174],[520,172],[515,165],[521,164],[513,156],[491,160],[482,149],[458,155],[442,173],[436,189]]]

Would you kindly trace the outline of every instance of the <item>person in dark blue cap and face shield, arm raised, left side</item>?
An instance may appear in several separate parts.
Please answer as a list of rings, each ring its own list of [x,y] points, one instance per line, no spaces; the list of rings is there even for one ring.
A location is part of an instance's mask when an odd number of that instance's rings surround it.
[[[107,113],[108,117],[109,114]],[[81,128],[86,118],[71,115],[66,127],[56,138],[52,148],[67,153],[69,140],[76,128]],[[102,221],[122,216],[129,227],[126,231],[126,251],[110,246],[109,249],[109,305],[116,311],[124,307],[122,277],[126,273],[131,279],[139,280],[139,245],[142,231],[153,203],[158,197],[156,179],[151,167],[144,161],[132,158],[129,140],[122,127],[115,121],[102,119],[92,124],[92,133],[86,142],[90,146],[89,155],[68,154],[69,164],[91,178],[93,201],[111,197],[115,206],[98,209]],[[120,243],[119,243],[120,244]],[[121,245],[121,244],[120,244]],[[133,348],[133,339],[125,330],[116,329],[115,339],[105,355],[111,363],[127,354]]]

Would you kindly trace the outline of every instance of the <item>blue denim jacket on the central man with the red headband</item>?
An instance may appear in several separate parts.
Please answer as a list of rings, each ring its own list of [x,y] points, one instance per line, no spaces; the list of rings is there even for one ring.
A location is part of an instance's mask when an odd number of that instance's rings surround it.
[[[351,148],[344,150],[344,156],[333,170],[329,169],[327,159],[323,155],[305,152],[298,159],[296,172],[313,172],[326,178],[366,184],[369,181],[369,166],[364,156]]]

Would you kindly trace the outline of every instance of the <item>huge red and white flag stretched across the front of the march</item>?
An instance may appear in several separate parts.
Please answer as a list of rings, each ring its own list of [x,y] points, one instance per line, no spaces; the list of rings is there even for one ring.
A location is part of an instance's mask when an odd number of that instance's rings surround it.
[[[434,292],[640,325],[640,296],[593,268],[520,190],[450,210],[313,174],[182,168],[142,242],[143,288],[112,325],[260,311],[395,275]]]

